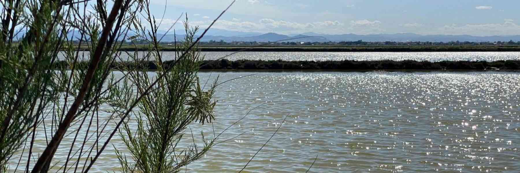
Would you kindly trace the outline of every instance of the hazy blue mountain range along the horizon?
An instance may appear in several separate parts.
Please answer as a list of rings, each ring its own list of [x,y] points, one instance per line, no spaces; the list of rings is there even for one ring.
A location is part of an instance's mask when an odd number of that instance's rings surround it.
[[[200,31],[202,32],[202,30]],[[180,34],[183,32],[177,31],[177,41],[184,38],[184,35]],[[21,32],[19,35],[23,35]],[[77,34],[77,33],[76,33]],[[72,38],[72,32],[67,34],[69,38]],[[128,33],[128,36],[132,36],[132,33]],[[158,36],[163,37],[162,42],[173,42],[175,37],[173,31],[158,31]],[[75,36],[77,37],[77,35]],[[303,37],[303,38],[302,38]],[[78,39],[78,38],[74,38]],[[314,32],[306,32],[301,34],[277,34],[277,33],[258,33],[258,32],[237,32],[228,31],[222,29],[210,29],[206,35],[202,38],[202,42],[208,42],[210,40],[219,42],[223,40],[225,42],[275,42],[280,40],[287,40],[284,42],[351,42],[362,40],[365,42],[497,42],[497,41],[520,41],[520,35],[506,35],[506,36],[472,36],[472,35],[420,35],[413,33],[399,33],[399,34],[369,34],[369,35],[357,35],[357,34],[319,34]]]

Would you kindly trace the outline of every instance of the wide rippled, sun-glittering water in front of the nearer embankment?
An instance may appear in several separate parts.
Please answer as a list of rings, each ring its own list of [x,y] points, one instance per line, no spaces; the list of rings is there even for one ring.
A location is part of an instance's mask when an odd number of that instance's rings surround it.
[[[200,73],[201,81],[252,73]],[[221,143],[188,172],[518,172],[520,73],[269,72],[219,86]],[[100,116],[102,116],[100,114]],[[106,115],[103,115],[106,116]],[[211,124],[192,124],[213,136]],[[197,137],[196,137],[197,138]],[[67,142],[64,140],[64,142]],[[120,140],[112,143],[121,146]],[[113,150],[96,171],[116,170]]]

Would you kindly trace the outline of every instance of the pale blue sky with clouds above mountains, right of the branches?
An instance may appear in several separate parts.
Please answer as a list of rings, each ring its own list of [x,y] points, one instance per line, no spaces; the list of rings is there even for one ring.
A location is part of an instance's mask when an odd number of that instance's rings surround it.
[[[164,28],[181,12],[205,28],[231,0],[151,0]],[[244,32],[298,34],[520,35],[520,1],[239,0],[214,26]],[[180,25],[179,25],[180,26]]]

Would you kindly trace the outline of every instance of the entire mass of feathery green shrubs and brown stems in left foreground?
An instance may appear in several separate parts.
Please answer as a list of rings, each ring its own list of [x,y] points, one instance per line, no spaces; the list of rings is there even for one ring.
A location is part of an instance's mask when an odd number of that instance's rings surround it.
[[[115,149],[123,172],[175,172],[213,147],[217,137],[177,149],[191,122],[215,118],[216,81],[209,89],[199,83],[198,28],[187,19],[175,62],[164,65],[149,0],[0,5],[0,172],[88,172],[118,131],[132,154],[127,161]],[[137,35],[125,44],[148,43],[147,51],[130,55],[131,65],[113,65],[128,53],[120,50],[130,29]]]

